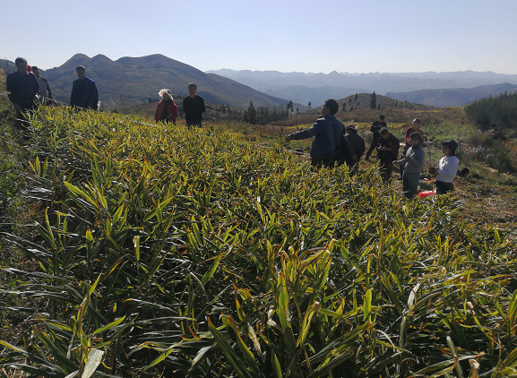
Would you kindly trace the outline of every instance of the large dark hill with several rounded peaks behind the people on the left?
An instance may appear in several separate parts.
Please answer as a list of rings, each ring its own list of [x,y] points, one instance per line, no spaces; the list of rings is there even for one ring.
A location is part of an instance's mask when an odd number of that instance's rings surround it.
[[[97,83],[101,106],[108,108],[157,98],[162,88],[186,96],[190,82],[195,82],[197,93],[213,104],[247,107],[252,100],[255,107],[286,107],[288,102],[287,99],[273,97],[215,73],[203,73],[191,65],[159,54],[121,57],[116,61],[103,55],[90,58],[76,54],[65,64],[42,71],[55,99],[69,102],[72,82],[77,79],[75,67],[80,64],[86,67],[87,76]],[[0,61],[0,67],[5,67],[7,73],[13,72],[13,62]]]

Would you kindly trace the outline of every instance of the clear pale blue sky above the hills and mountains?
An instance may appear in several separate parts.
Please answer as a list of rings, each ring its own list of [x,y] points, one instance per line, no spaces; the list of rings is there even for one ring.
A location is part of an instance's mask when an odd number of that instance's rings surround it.
[[[25,0],[0,58],[163,54],[202,71],[517,74],[517,0]]]

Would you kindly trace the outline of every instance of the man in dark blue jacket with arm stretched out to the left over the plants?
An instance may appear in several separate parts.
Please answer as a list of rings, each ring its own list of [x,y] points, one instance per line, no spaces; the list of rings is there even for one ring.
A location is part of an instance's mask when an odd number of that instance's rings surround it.
[[[291,133],[286,136],[286,142],[291,140],[300,140],[313,138],[311,145],[312,165],[317,168],[334,166],[334,159],[338,150],[341,136],[344,132],[344,125],[334,116],[340,106],[335,99],[327,99],[322,108],[322,116],[320,116],[315,125],[310,129],[301,132]]]

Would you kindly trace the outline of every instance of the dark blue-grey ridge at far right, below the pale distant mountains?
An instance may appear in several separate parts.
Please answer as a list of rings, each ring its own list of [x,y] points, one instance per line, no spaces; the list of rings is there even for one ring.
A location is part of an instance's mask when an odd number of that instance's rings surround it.
[[[413,90],[410,92],[388,92],[386,96],[402,101],[418,102],[433,107],[463,107],[477,99],[497,96],[501,93],[517,90],[516,84],[480,85],[475,88],[457,88],[441,90]]]

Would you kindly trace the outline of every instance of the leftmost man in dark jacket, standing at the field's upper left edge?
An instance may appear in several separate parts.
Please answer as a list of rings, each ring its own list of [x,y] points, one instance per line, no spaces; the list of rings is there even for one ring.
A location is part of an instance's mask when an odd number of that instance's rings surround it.
[[[39,83],[34,73],[27,71],[27,60],[17,57],[14,61],[16,72],[5,78],[9,99],[13,103],[16,116],[22,118],[22,112],[33,110],[39,104]]]

